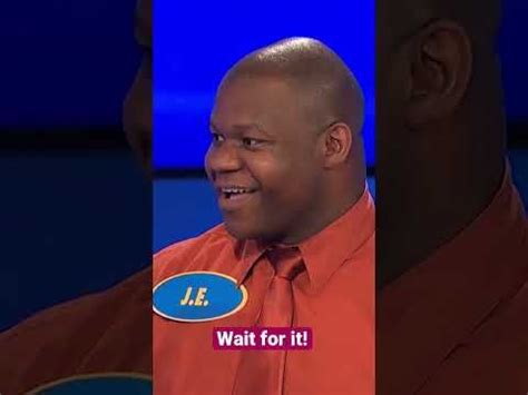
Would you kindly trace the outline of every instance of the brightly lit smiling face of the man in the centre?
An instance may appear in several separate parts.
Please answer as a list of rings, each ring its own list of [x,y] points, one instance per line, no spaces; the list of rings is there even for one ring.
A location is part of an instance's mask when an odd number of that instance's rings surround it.
[[[316,211],[322,158],[299,101],[272,78],[235,78],[218,91],[205,165],[238,239],[287,243]]]

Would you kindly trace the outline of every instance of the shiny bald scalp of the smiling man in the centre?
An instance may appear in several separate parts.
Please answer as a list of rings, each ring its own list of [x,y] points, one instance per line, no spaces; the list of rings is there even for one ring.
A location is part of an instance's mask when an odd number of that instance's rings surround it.
[[[314,127],[346,124],[354,134],[363,126],[363,95],[341,58],[322,42],[292,38],[258,49],[238,61],[223,86],[242,77],[271,77],[286,81]]]

